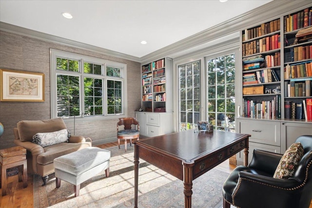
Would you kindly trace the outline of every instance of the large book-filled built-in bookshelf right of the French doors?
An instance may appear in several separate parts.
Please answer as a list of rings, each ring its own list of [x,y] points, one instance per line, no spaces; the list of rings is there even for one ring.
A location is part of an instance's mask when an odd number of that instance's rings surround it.
[[[241,40],[240,115],[310,123],[312,7],[242,30]]]

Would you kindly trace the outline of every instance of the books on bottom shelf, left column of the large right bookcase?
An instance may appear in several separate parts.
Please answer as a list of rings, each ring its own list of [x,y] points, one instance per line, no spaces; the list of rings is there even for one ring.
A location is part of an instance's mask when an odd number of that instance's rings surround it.
[[[243,116],[251,118],[281,118],[281,96],[275,95],[272,100],[243,99]]]

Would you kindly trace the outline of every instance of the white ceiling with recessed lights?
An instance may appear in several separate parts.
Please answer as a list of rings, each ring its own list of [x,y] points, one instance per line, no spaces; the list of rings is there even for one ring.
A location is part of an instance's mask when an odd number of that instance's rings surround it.
[[[143,57],[270,1],[0,0],[0,21]]]

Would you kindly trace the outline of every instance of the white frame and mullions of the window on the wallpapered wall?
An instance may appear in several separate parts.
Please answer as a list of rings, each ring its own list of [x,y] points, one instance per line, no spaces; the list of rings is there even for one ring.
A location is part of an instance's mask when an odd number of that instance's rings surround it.
[[[63,71],[57,70],[57,58],[68,58],[73,60],[78,60],[79,63],[79,72],[70,72],[70,71]],[[94,75],[94,74],[84,74],[83,73],[83,66],[84,62],[94,63],[102,65],[102,75]],[[120,76],[106,76],[106,66],[120,68]],[[57,74],[62,75],[70,75],[70,76],[79,76],[80,79],[80,115],[75,117],[81,117],[85,119],[114,119],[120,117],[127,117],[128,116],[128,104],[127,104],[127,64],[109,61],[101,58],[96,57],[89,57],[80,54],[60,51],[56,49],[50,49],[50,83],[51,83],[51,118],[58,117],[57,112]],[[92,115],[92,116],[84,116],[84,77],[90,78],[99,78],[103,79],[102,87],[103,87],[103,114],[102,115]],[[117,114],[107,114],[107,79],[121,81],[122,83],[122,113]],[[74,117],[74,116],[72,116]],[[68,117],[66,117],[68,118]]]

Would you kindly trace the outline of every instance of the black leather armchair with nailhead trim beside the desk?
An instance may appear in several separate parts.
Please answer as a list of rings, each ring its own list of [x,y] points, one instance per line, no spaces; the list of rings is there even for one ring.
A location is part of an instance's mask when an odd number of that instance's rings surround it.
[[[296,139],[304,155],[293,176],[273,178],[283,156],[254,150],[248,167],[237,166],[223,185],[223,208],[309,208],[312,199],[312,135]]]

